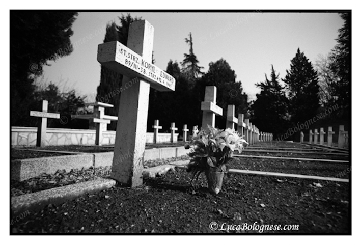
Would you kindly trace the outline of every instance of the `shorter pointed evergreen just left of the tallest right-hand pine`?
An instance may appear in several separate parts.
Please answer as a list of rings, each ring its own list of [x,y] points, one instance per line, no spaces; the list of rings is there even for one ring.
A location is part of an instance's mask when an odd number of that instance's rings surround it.
[[[267,78],[262,83],[256,84],[261,92],[256,95],[253,102],[252,121],[261,131],[271,132],[275,137],[279,137],[287,128],[287,98],[284,87],[279,81],[280,74],[271,68],[271,79]]]

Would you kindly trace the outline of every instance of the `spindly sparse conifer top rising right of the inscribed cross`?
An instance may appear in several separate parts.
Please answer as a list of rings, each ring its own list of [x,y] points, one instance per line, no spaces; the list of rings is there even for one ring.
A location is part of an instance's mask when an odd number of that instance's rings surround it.
[[[185,42],[189,44],[189,55],[184,53],[184,60],[181,63],[183,67],[182,72],[187,76],[188,79],[195,81],[196,78],[203,74],[201,69],[204,67],[198,66],[199,61],[193,52],[193,39],[191,33],[189,33],[189,39],[185,38]]]

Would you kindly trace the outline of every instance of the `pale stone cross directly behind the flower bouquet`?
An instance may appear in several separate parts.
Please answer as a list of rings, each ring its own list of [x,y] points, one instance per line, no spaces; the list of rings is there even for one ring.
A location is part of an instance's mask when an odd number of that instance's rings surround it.
[[[206,129],[207,125],[215,126],[215,116],[222,116],[223,109],[216,105],[217,88],[215,86],[206,86],[204,101],[201,103],[203,111],[202,128]]]

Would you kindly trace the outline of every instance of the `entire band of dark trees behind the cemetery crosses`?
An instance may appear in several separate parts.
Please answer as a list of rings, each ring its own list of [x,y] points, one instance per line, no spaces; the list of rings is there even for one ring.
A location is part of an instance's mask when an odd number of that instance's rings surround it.
[[[38,108],[40,100],[47,99],[49,112],[69,118],[67,123],[49,120],[49,127],[88,128],[87,120],[70,120],[71,114],[86,107],[85,96],[79,96],[75,90],[60,91],[53,83],[48,86],[34,83],[35,78],[41,76],[42,67],[48,65],[46,61],[60,59],[72,52],[71,26],[76,16],[76,12],[10,12],[12,126],[35,126],[37,120],[29,116],[29,111]],[[162,131],[167,131],[171,122],[175,122],[180,130],[183,124],[188,128],[201,125],[201,102],[205,87],[211,85],[217,87],[216,103],[224,109],[223,116],[216,117],[219,128],[226,126],[228,104],[235,105],[236,115],[245,114],[261,131],[271,132],[275,137],[336,104],[338,110],[322,120],[347,120],[350,116],[351,13],[340,16],[344,24],[339,30],[337,45],[326,57],[320,57],[313,65],[298,48],[284,78],[279,77],[272,65],[270,76],[265,75],[265,80],[256,84],[261,91],[254,101],[248,101],[241,81],[236,80],[235,71],[223,58],[210,62],[208,71],[203,71],[189,33],[184,40],[189,51],[184,53],[183,61],[170,60],[166,67],[166,72],[176,78],[176,91],[150,91],[147,130],[152,131],[155,119],[163,126]],[[130,14],[122,15],[119,25],[115,22],[107,25],[103,41],[117,40],[126,45],[130,23],[140,19]],[[63,51],[59,52],[60,49]],[[152,63],[155,62],[153,56]],[[122,78],[121,74],[101,67],[96,100],[113,94],[106,97],[106,102],[114,105],[105,109],[107,115],[118,116],[121,92],[114,94],[114,91],[121,91]],[[116,124],[112,121],[108,130],[115,130]]]

